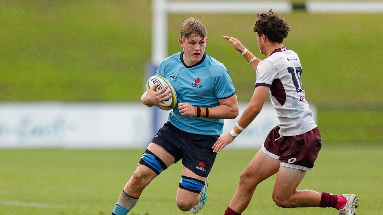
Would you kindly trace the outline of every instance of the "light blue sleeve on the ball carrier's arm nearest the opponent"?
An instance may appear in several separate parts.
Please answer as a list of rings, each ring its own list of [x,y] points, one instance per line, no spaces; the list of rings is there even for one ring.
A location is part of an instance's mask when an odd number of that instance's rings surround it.
[[[216,71],[213,77],[214,91],[218,99],[226,99],[236,93],[233,82],[231,81],[229,71],[225,67],[220,67],[220,71]]]

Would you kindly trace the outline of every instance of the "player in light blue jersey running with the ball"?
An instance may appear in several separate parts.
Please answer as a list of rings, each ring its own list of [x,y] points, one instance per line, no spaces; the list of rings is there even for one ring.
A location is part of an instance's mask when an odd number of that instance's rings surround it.
[[[207,179],[216,158],[212,147],[222,134],[223,119],[238,116],[236,91],[228,70],[205,53],[208,42],[205,26],[188,18],[180,29],[178,43],[183,51],[165,59],[156,72],[173,85],[178,106],[170,112],[169,122],[155,134],[142,155],[112,215],[126,215],[144,188],[181,159],[183,169],[177,206],[182,211],[199,212],[206,203]],[[141,101],[146,106],[164,106],[161,101],[170,98],[171,95],[165,96],[167,87],[155,92],[157,85],[142,95]]]

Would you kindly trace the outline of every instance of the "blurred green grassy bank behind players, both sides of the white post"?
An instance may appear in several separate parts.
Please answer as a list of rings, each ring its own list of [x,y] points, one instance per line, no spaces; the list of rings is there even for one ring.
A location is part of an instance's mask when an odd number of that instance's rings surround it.
[[[14,1],[0,13],[0,99],[139,101],[151,55],[151,1]],[[240,101],[254,90],[254,73],[221,37],[234,36],[260,58],[251,32],[255,15],[169,15],[169,54],[179,26],[205,23],[206,52],[231,72]],[[319,105],[382,104],[383,16],[283,15],[292,26],[284,44],[303,66],[306,98]],[[368,33],[366,33],[368,32]],[[366,105],[365,105],[366,106]]]

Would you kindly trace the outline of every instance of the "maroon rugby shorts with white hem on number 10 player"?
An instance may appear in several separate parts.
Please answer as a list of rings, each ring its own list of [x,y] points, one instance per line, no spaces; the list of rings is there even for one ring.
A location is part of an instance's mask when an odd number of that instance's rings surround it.
[[[312,171],[322,146],[318,127],[304,134],[288,137],[281,137],[279,129],[277,126],[270,131],[262,145],[262,151],[280,160],[281,166]]]

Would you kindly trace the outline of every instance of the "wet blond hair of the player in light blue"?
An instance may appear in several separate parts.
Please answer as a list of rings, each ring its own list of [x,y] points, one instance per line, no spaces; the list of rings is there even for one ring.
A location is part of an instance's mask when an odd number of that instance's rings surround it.
[[[202,38],[206,37],[207,31],[204,24],[200,20],[189,17],[183,20],[181,26],[181,39],[189,38],[192,35],[200,36]]]

